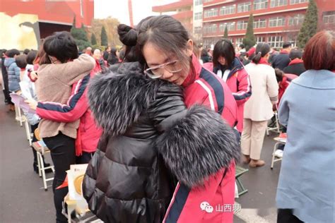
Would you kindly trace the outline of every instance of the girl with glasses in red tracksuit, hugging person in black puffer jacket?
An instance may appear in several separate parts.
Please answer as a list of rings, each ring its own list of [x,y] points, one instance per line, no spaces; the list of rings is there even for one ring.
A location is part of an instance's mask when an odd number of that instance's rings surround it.
[[[221,114],[233,128],[237,123],[233,94],[221,78],[201,66],[184,26],[171,16],[153,16],[137,29],[134,42],[144,73],[182,86],[187,107],[203,104]],[[167,163],[183,162],[164,159]],[[163,222],[233,222],[235,162],[238,160],[233,159],[227,168],[208,175],[203,186],[177,183]],[[189,171],[196,174],[206,170],[189,167]],[[224,206],[230,209],[223,211]]]

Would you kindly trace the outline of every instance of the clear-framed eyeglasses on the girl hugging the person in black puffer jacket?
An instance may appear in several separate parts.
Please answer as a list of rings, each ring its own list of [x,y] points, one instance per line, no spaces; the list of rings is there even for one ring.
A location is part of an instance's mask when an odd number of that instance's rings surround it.
[[[160,64],[158,66],[153,66],[151,68],[147,68],[144,70],[144,73],[146,73],[146,75],[149,78],[160,78],[163,76],[164,74],[164,70],[169,71],[170,73],[177,73],[182,71],[182,68],[180,68],[180,61],[175,60],[175,61],[171,61],[171,62],[167,62],[165,64]]]

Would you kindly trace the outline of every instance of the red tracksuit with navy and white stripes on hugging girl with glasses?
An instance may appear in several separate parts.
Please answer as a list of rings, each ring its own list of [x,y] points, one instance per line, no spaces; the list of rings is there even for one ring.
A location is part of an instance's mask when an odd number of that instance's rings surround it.
[[[182,84],[187,107],[204,104],[221,114],[230,126],[235,126],[237,105],[228,85],[203,68],[194,55],[192,65],[189,76]],[[234,201],[235,163],[233,162],[228,169],[221,169],[210,176],[203,188],[187,188],[177,183],[163,222],[233,222]],[[206,212],[201,208],[204,202],[213,207],[213,212]]]

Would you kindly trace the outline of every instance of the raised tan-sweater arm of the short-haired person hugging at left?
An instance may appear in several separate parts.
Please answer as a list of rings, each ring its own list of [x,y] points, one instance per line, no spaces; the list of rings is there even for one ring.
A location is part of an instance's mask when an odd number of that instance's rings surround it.
[[[88,54],[81,54],[74,61],[64,64],[52,64],[52,66],[57,67],[57,72],[52,74],[53,78],[66,85],[73,85],[92,71],[95,66],[95,59]]]

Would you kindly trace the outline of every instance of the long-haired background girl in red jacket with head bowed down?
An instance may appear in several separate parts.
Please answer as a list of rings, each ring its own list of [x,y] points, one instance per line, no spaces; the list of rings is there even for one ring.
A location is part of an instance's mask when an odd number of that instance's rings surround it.
[[[252,94],[249,75],[240,59],[235,56],[235,50],[230,40],[219,40],[213,50],[213,62],[203,65],[208,71],[216,73],[227,83],[237,103],[237,131],[243,130],[243,109],[245,102]]]

